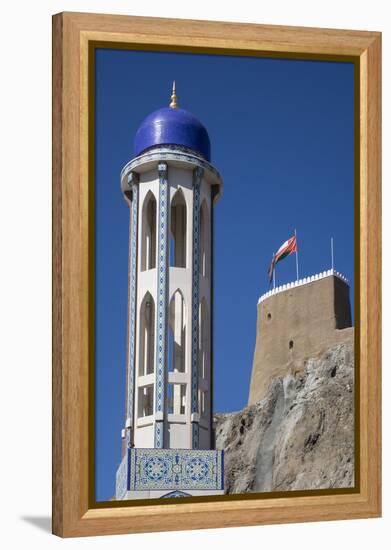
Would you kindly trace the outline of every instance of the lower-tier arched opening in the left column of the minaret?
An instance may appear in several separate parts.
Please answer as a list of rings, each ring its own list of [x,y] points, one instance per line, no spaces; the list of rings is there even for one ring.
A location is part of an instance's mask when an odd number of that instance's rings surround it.
[[[155,303],[146,293],[140,308],[139,375],[152,374],[155,366]]]

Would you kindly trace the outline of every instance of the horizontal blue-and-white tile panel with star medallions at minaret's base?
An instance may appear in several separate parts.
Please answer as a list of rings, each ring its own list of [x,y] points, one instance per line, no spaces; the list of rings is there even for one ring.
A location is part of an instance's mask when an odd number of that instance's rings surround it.
[[[224,489],[223,451],[133,448],[129,458],[130,491]]]

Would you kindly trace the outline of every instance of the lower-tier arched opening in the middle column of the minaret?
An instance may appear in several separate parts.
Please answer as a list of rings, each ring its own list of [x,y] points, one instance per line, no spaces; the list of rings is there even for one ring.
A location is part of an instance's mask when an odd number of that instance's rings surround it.
[[[182,292],[176,290],[170,302],[168,365],[172,372],[186,369],[186,310]]]

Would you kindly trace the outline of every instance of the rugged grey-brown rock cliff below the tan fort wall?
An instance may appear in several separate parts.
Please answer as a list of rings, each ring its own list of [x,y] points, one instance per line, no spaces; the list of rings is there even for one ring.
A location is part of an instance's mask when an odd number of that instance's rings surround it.
[[[227,493],[354,485],[354,347],[350,342],[275,378],[258,403],[216,414]]]

